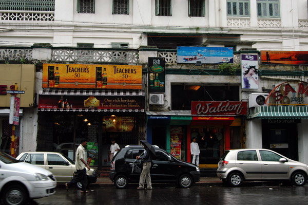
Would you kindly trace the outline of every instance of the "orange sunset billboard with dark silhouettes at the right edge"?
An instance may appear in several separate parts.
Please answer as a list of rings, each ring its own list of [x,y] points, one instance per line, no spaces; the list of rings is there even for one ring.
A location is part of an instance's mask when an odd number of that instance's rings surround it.
[[[308,65],[308,51],[262,50],[261,64]]]

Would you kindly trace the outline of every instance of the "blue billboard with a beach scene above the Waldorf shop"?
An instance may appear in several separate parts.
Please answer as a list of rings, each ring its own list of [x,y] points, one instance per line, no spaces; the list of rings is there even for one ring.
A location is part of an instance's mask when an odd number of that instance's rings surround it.
[[[201,61],[204,64],[233,63],[233,48],[228,47],[178,47],[178,63]]]

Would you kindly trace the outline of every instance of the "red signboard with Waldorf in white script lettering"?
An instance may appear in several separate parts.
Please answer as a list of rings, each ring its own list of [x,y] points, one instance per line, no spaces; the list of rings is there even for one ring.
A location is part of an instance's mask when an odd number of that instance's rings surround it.
[[[191,101],[191,115],[246,115],[247,102]]]

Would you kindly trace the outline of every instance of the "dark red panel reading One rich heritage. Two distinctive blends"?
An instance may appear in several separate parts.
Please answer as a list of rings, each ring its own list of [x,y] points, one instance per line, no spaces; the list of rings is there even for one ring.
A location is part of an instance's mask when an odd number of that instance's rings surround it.
[[[40,95],[38,108],[50,109],[144,109],[144,96],[47,96]]]

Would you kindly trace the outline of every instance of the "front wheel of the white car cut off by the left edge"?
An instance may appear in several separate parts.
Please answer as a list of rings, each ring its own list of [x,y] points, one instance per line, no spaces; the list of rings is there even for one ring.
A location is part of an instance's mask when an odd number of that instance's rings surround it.
[[[4,189],[2,198],[4,204],[19,205],[26,203],[28,200],[28,193],[21,185],[12,184]]]

